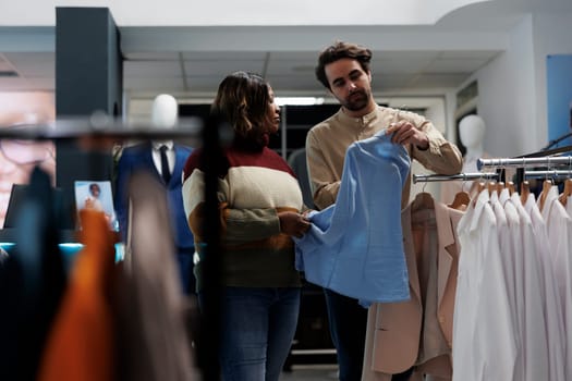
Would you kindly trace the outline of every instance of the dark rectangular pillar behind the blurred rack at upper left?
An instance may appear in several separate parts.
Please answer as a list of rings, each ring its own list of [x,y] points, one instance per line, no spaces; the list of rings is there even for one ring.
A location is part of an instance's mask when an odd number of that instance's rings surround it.
[[[120,34],[107,8],[56,9],[56,115],[88,116],[122,110],[123,59]],[[73,140],[57,142],[56,183],[68,210],[75,210],[74,182],[111,181],[109,151],[86,151]]]

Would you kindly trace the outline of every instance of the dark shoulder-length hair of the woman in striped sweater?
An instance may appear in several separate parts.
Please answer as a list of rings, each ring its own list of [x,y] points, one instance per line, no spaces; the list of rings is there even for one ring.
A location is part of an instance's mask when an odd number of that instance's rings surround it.
[[[270,102],[268,83],[258,74],[234,72],[219,85],[210,112],[229,122],[241,136],[256,135]]]

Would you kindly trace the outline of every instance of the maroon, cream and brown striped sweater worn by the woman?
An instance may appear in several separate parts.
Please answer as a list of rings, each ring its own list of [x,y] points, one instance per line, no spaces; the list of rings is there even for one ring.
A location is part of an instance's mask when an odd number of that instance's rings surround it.
[[[203,256],[204,173],[196,149],[183,170],[183,205],[195,247]],[[268,147],[259,150],[224,150],[218,171],[221,213],[220,275],[223,286],[300,286],[294,268],[294,244],[280,233],[278,212],[302,211],[297,180],[288,163]],[[195,265],[197,290],[202,288],[202,263]]]

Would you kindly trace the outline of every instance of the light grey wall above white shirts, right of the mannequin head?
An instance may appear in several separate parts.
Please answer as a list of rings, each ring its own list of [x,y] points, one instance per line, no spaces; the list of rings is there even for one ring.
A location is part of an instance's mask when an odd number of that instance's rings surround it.
[[[478,82],[489,155],[514,157],[546,146],[546,57],[572,53],[570,20],[571,13],[526,16],[510,32],[506,52],[466,82]]]

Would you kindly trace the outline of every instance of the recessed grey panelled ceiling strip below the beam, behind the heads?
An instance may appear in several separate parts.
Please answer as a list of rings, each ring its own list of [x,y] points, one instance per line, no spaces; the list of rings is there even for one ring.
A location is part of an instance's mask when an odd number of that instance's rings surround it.
[[[377,91],[400,93],[454,88],[499,51],[374,51],[372,70]],[[227,73],[264,74],[277,94],[320,95],[308,51],[173,51],[126,52],[124,89],[132,96],[158,93],[187,97],[216,91]],[[0,90],[53,90],[54,52],[0,53]]]

